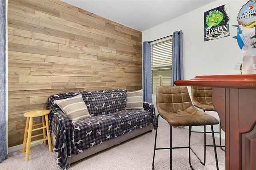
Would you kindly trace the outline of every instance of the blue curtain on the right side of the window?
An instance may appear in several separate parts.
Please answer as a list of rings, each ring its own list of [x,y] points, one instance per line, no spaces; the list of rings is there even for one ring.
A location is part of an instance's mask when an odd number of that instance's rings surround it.
[[[175,80],[183,80],[182,31],[172,36],[172,86]]]

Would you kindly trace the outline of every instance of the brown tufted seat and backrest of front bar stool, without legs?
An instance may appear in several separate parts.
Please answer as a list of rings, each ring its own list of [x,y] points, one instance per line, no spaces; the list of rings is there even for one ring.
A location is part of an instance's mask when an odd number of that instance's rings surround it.
[[[217,125],[219,121],[196,109],[187,87],[157,86],[156,107],[170,126]]]

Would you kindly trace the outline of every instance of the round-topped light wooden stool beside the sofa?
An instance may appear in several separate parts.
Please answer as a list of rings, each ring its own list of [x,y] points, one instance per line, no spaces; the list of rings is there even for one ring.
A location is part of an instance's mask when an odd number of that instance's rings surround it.
[[[49,152],[52,152],[52,142],[51,142],[51,136],[49,134],[49,121],[48,121],[48,114],[50,112],[51,111],[49,111],[49,110],[36,110],[36,111],[30,111],[30,112],[24,113],[24,117],[27,117],[25,134],[24,134],[24,139],[23,139],[23,147],[22,147],[22,153],[24,153],[26,145],[27,145],[25,161],[28,161],[28,158],[29,158],[30,144],[44,141],[44,145],[46,146],[46,140],[48,140]],[[40,117],[40,116],[42,116],[42,123],[33,125],[33,118]],[[42,127],[32,129],[32,127],[39,126],[39,125],[42,125]],[[43,133],[31,136],[32,131],[40,130],[40,129],[43,129]],[[45,129],[47,132],[47,136],[46,136]],[[44,139],[37,140],[35,142],[30,143],[31,138],[41,136],[41,135],[44,136]]]

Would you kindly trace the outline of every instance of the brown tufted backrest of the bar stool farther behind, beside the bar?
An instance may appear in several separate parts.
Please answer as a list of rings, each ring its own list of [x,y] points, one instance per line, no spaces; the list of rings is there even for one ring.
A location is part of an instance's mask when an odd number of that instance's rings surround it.
[[[212,87],[191,87],[193,103],[212,104]]]

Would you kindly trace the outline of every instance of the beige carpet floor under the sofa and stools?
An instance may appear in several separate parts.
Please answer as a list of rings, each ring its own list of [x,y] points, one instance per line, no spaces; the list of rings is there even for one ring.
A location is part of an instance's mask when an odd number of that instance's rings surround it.
[[[188,129],[172,128],[173,147],[188,146]],[[107,150],[84,158],[70,165],[70,170],[150,170],[154,150],[155,130],[113,146]],[[207,144],[212,144],[212,136],[207,136]],[[218,141],[218,138],[216,138]],[[224,140],[222,141],[225,142]],[[159,121],[157,147],[169,146],[169,125]],[[192,147],[203,159],[203,134],[192,133]],[[196,170],[216,170],[213,147],[206,147],[206,165],[192,155],[192,166]],[[217,148],[220,170],[225,169],[225,152]],[[61,170],[56,163],[56,152],[48,152],[48,145],[39,144],[30,148],[30,159],[25,162],[21,150],[8,154],[8,159],[0,163],[1,170]],[[156,150],[155,169],[168,170],[169,150]],[[173,170],[190,170],[188,149],[174,149]]]

